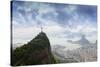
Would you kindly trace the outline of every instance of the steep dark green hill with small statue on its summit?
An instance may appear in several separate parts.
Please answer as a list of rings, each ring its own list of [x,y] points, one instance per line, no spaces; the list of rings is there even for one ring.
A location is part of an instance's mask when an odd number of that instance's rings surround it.
[[[40,32],[27,44],[16,48],[11,54],[11,65],[39,65],[56,63],[52,53],[48,37]]]

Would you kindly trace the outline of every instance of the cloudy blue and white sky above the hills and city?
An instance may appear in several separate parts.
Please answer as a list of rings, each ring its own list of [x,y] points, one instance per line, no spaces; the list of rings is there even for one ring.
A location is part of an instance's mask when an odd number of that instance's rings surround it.
[[[79,40],[82,35],[94,43],[97,40],[97,6],[44,3],[31,1],[11,2],[13,46],[32,40],[41,26],[51,45],[69,49],[80,47],[67,40]]]

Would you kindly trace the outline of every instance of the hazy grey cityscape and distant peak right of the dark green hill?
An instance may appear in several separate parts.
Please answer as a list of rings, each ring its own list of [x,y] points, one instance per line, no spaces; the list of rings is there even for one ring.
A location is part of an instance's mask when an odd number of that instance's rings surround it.
[[[52,46],[52,53],[60,63],[92,62],[97,61],[97,40],[89,42],[85,35],[77,41],[68,40],[72,44],[79,44],[81,47],[73,50],[66,50],[62,45]],[[67,44],[66,44],[67,45]]]

